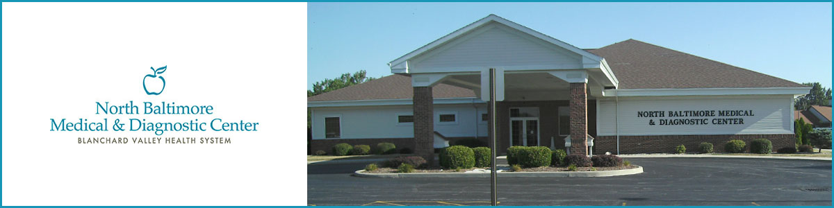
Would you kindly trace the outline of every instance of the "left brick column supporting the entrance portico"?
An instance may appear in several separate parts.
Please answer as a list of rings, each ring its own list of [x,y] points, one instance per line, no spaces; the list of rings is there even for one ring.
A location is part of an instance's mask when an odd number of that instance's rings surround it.
[[[435,107],[431,87],[414,87],[414,154],[435,165]]]

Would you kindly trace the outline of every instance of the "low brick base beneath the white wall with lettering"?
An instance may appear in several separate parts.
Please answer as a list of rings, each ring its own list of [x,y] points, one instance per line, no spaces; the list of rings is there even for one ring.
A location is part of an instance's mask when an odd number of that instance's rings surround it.
[[[715,152],[724,152],[724,144],[730,140],[742,140],[750,146],[750,141],[765,138],[773,143],[773,151],[785,146],[794,146],[793,134],[768,135],[665,135],[665,136],[620,136],[620,154],[635,153],[673,153],[675,147],[686,146],[686,152],[699,152],[701,142],[712,143]],[[594,140],[594,154],[617,152],[617,136],[597,136]],[[750,151],[747,147],[746,151]]]

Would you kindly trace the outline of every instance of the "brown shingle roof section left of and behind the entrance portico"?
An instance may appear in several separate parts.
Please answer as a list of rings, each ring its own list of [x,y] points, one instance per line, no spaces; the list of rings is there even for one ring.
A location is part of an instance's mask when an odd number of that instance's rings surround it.
[[[355,101],[355,100],[389,100],[411,99],[414,88],[411,87],[411,77],[393,74],[364,82],[351,87],[327,92],[314,97],[307,97],[308,102],[323,101]],[[440,83],[432,88],[435,98],[439,97],[475,97],[475,92],[463,87],[455,87]]]

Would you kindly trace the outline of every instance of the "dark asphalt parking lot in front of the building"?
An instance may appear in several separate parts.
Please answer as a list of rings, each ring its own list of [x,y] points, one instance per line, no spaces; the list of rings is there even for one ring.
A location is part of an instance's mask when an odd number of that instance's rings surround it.
[[[629,158],[644,172],[500,178],[500,206],[831,206],[831,161]],[[368,162],[310,164],[315,206],[489,206],[489,178],[363,178]],[[502,163],[501,161],[499,164]]]

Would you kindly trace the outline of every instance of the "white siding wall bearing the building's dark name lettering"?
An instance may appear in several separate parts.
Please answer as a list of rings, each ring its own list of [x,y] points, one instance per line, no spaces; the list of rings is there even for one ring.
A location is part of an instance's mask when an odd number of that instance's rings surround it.
[[[646,135],[719,135],[719,134],[791,134],[791,96],[723,96],[723,97],[620,97],[620,136]],[[615,136],[615,100],[600,100],[600,136]],[[731,118],[715,117],[670,117],[668,111],[695,110],[752,110],[755,116],[731,116],[743,118],[744,124],[735,125],[649,125],[653,119]],[[638,111],[666,111],[666,117],[638,117]]]

